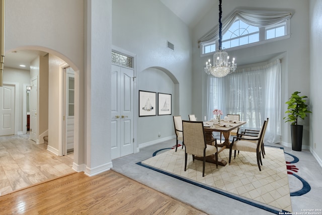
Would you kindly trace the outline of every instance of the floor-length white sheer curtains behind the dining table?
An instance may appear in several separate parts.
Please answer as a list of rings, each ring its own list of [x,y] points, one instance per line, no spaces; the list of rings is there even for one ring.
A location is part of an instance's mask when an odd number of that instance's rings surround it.
[[[242,128],[257,129],[269,118],[265,141],[281,138],[281,63],[236,70],[223,78],[208,76],[208,117],[217,108],[226,114],[239,114],[247,121]]]

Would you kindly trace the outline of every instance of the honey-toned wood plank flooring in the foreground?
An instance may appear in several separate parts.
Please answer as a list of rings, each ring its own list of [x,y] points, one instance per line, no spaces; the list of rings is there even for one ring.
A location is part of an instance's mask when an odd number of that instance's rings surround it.
[[[0,196],[0,214],[205,214],[112,170],[73,173]]]

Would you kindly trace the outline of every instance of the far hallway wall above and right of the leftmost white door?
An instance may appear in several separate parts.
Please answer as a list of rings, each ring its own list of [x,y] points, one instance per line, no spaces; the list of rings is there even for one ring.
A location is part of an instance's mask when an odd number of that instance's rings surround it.
[[[29,70],[17,69],[17,68],[4,68],[4,82],[5,83],[18,83],[18,113],[16,113],[16,117],[18,117],[18,132],[23,132],[23,99],[24,94],[26,94],[26,89],[24,89],[24,85],[30,85],[30,72]],[[16,89],[17,90],[17,89]],[[27,122],[27,121],[26,121]]]

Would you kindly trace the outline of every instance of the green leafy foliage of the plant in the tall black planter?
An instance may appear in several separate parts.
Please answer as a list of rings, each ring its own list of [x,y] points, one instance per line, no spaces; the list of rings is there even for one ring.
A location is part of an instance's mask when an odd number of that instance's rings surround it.
[[[292,125],[297,125],[298,117],[304,119],[307,116],[307,113],[312,113],[311,111],[307,110],[307,105],[305,104],[305,98],[307,98],[307,96],[299,96],[299,93],[301,92],[294,92],[291,95],[291,98],[285,102],[285,104],[288,105],[285,113],[288,113],[288,115],[283,119],[285,119],[285,122],[291,122]]]

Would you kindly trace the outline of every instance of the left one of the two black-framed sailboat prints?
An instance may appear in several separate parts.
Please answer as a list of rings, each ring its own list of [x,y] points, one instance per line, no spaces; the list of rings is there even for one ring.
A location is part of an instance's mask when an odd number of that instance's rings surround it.
[[[139,90],[139,116],[156,115],[156,93]]]

